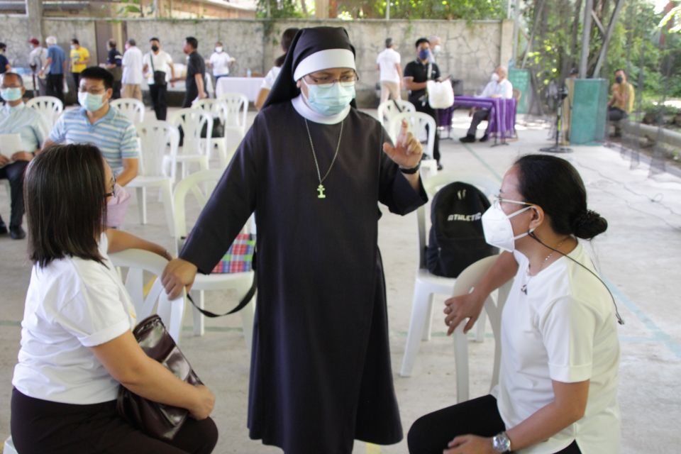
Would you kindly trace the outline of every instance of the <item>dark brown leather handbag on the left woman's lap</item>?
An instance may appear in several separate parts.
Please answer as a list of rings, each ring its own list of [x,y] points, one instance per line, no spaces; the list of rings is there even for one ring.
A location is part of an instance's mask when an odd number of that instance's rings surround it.
[[[180,380],[194,386],[203,384],[159,316],[149,316],[140,321],[133,330],[133,336],[144,353],[167,367]],[[172,440],[189,416],[187,409],[152,402],[123,386],[118,389],[116,408],[132,426],[161,440]]]

